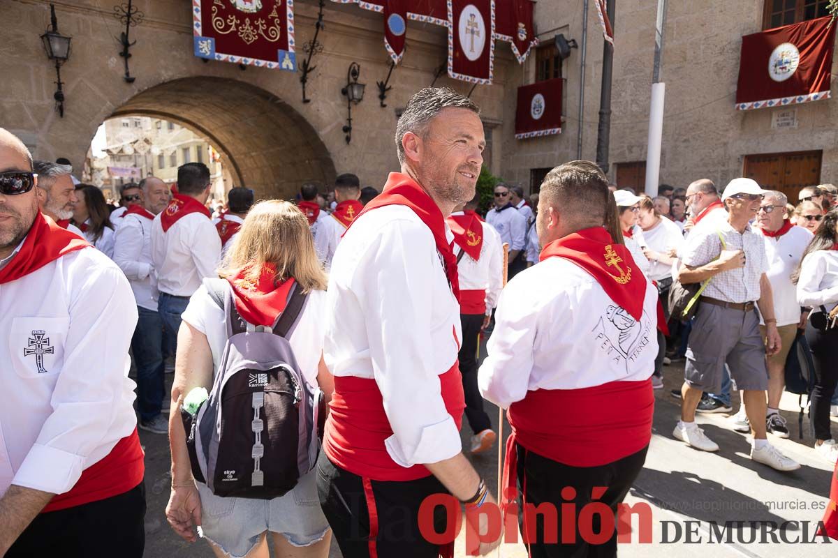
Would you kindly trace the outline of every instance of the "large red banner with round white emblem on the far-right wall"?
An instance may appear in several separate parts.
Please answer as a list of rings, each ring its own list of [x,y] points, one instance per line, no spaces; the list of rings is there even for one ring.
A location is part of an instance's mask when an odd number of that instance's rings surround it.
[[[737,110],[830,98],[835,25],[831,17],[742,37]]]

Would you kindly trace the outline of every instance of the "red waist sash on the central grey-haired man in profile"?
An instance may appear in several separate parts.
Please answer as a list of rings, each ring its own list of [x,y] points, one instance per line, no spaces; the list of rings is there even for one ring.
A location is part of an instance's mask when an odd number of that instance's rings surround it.
[[[459,362],[439,376],[439,384],[445,408],[459,429],[466,407]],[[387,453],[384,441],[393,430],[374,379],[334,376],[334,394],[328,407],[323,451],[332,463],[373,480],[416,480],[431,474],[423,465],[401,467]]]

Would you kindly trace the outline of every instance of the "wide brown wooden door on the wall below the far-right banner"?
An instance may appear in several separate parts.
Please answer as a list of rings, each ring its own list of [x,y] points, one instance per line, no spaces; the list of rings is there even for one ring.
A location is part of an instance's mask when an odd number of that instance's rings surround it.
[[[783,192],[797,205],[801,188],[820,184],[822,155],[823,151],[747,155],[743,174],[766,190]]]

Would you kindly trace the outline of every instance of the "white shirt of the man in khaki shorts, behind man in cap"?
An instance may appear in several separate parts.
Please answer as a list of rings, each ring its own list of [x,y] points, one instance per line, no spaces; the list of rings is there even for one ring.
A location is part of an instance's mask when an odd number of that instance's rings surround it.
[[[792,227],[781,237],[767,237],[756,228],[754,232],[763,237],[765,256],[768,259],[768,282],[774,300],[774,317],[777,325],[797,324],[800,321],[800,305],[797,304],[797,287],[791,281],[791,274],[797,269],[806,247],[815,235],[803,227]],[[763,324],[760,315],[759,323]]]

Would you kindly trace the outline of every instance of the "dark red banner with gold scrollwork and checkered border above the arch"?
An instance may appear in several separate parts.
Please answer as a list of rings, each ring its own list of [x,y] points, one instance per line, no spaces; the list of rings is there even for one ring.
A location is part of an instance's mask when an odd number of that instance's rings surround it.
[[[192,0],[192,15],[195,56],[297,70],[294,0]]]

